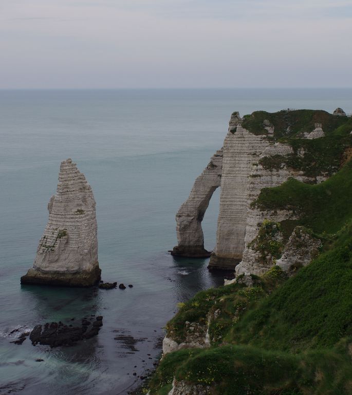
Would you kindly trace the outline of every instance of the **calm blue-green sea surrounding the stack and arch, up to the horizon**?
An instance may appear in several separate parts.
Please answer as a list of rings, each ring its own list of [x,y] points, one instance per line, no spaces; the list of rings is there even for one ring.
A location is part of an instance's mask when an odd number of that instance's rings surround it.
[[[223,282],[207,260],[174,259],[175,213],[219,149],[233,111],[352,111],[352,89],[0,91],[0,394],[118,394],[151,369],[176,303]],[[72,158],[97,201],[105,281],[133,289],[21,286],[47,222],[60,161]],[[215,243],[218,192],[203,222]],[[46,321],[101,314],[75,347],[11,344]],[[43,362],[35,362],[41,358]]]

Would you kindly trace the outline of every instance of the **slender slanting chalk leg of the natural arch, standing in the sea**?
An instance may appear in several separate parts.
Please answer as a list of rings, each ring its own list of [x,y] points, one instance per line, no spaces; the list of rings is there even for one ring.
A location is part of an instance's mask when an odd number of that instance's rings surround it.
[[[222,166],[223,150],[220,149],[211,157],[201,175],[196,178],[187,201],[181,205],[176,214],[178,245],[172,250],[172,255],[199,258],[210,256],[210,252],[204,248],[201,222],[213,192],[220,186]]]

